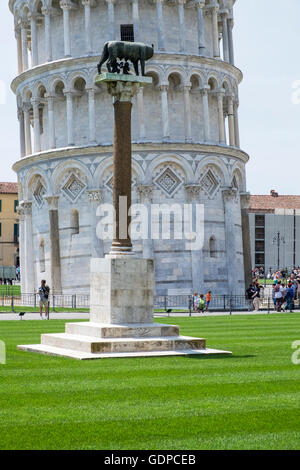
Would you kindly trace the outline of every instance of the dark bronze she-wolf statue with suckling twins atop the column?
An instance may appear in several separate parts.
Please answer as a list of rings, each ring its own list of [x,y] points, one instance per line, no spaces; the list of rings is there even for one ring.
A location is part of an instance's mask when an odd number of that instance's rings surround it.
[[[145,76],[145,62],[154,55],[154,47],[146,46],[141,42],[127,42],[127,41],[109,41],[104,44],[102,57],[98,64],[98,72],[101,74],[102,65],[107,62],[107,70],[110,73],[119,73],[120,64],[118,59],[125,60],[125,66],[127,61],[130,60],[133,63],[136,75],[139,75],[139,62],[141,63],[142,75]],[[127,64],[128,65],[128,64]],[[122,65],[124,69],[124,65]],[[125,67],[124,70],[129,67]]]

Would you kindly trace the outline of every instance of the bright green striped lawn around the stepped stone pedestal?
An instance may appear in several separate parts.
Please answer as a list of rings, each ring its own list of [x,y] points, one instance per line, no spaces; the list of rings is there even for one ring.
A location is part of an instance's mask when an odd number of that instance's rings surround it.
[[[0,449],[299,449],[300,315],[170,320],[233,356],[80,362],[16,350],[64,321],[1,321]]]

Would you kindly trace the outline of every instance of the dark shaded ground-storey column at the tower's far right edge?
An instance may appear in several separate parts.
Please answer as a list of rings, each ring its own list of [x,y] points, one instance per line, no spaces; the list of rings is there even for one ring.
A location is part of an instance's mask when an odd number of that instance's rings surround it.
[[[250,242],[250,223],[249,223],[250,193],[240,193],[240,201],[241,201],[245,286],[247,288],[252,283],[252,261],[251,261],[251,242]]]

